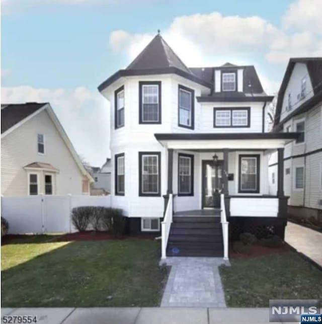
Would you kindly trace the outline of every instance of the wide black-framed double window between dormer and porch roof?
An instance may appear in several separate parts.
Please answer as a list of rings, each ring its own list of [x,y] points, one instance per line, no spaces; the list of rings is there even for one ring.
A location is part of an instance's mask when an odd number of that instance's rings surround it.
[[[250,127],[250,107],[214,108],[214,127]]]

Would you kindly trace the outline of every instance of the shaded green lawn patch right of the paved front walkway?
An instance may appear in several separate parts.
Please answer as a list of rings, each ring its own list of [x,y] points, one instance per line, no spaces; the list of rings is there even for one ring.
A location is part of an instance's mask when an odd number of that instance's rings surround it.
[[[229,307],[268,307],[269,299],[322,298],[322,271],[295,252],[230,263],[219,269]]]

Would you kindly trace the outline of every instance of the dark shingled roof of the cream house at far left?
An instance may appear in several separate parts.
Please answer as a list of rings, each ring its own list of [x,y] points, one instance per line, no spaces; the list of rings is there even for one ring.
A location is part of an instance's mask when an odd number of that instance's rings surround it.
[[[1,133],[4,133],[46,104],[32,102],[1,105]]]

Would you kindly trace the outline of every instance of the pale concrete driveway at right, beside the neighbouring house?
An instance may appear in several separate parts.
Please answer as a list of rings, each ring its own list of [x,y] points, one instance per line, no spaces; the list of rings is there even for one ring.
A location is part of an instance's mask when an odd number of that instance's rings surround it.
[[[285,241],[322,267],[322,233],[288,222]]]

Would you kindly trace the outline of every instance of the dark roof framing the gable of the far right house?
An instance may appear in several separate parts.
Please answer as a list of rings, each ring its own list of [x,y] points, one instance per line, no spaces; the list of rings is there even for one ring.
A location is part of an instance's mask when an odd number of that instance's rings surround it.
[[[307,71],[311,80],[313,94],[314,96],[307,101],[304,101],[302,105],[296,108],[292,113],[290,113],[284,120],[280,120],[283,98],[285,91],[291,77],[292,71],[296,63],[305,63]],[[286,71],[282,80],[282,84],[277,97],[276,112],[274,119],[274,128],[281,127],[280,123],[284,123],[286,120],[290,119],[292,116],[305,112],[309,108],[312,108],[317,101],[322,97],[322,57],[293,57],[288,61]]]

